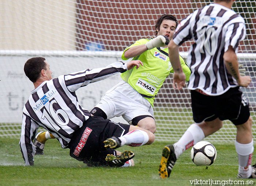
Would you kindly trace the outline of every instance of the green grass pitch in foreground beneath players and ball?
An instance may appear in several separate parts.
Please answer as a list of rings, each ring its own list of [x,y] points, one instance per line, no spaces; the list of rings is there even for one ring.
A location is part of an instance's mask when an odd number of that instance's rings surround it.
[[[57,140],[46,142],[45,155],[35,156],[34,166],[23,166],[18,143],[17,139],[0,138],[0,186],[186,186],[192,185],[190,180],[195,179],[241,181],[236,178],[237,154],[233,144],[214,144],[217,159],[207,169],[195,166],[190,159],[190,150],[185,151],[177,160],[170,178],[162,180],[158,177],[158,165],[166,142],[119,148],[136,154],[135,166],[128,168],[87,167],[72,159],[69,150],[62,149]]]

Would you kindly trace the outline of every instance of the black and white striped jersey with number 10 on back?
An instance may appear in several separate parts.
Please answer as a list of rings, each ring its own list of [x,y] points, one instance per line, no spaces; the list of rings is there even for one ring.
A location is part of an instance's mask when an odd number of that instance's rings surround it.
[[[188,54],[191,69],[188,88],[200,89],[217,96],[238,86],[227,71],[223,54],[229,46],[238,51],[238,43],[245,38],[244,19],[233,10],[219,4],[197,9],[182,20],[176,29],[173,42],[181,45],[193,39]]]

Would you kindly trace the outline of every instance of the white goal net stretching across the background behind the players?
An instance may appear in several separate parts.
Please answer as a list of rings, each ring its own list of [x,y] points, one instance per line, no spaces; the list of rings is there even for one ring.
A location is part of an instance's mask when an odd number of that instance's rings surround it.
[[[87,68],[121,61],[125,47],[140,38],[154,36],[154,26],[162,13],[180,21],[210,0],[1,0],[0,1],[0,136],[20,136],[22,109],[34,89],[23,72],[27,59],[46,58],[53,78]],[[240,43],[239,61],[252,83],[243,89],[256,112],[256,18],[255,0],[237,0],[234,11],[246,23],[246,38]],[[186,58],[186,42],[181,55]],[[79,89],[82,106],[90,111],[101,96],[120,81],[120,75]],[[154,113],[156,140],[177,140],[193,123],[187,88],[177,91],[168,77],[158,93]],[[125,121],[114,118],[113,121]],[[253,135],[256,128],[253,125]],[[233,142],[236,127],[225,121],[223,128],[206,140]]]

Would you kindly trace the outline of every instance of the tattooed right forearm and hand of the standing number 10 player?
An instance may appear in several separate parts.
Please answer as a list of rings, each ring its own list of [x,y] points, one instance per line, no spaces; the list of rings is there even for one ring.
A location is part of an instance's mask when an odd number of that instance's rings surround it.
[[[231,46],[224,53],[223,59],[225,60],[227,70],[237,80],[237,83],[242,87],[247,87],[252,81],[251,77],[240,75],[237,55]]]

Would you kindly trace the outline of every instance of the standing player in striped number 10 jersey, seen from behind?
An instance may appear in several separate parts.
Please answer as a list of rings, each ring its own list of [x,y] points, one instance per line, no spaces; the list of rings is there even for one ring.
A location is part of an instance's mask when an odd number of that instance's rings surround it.
[[[214,0],[197,9],[180,22],[168,45],[174,69],[173,86],[181,89],[185,85],[185,74],[178,46],[189,39],[195,42],[189,49],[187,62],[191,69],[188,88],[196,124],[192,124],[177,143],[163,149],[159,166],[161,178],[170,176],[178,156],[187,147],[218,131],[226,119],[237,127],[238,178],[256,178],[256,166],[251,166],[252,117],[248,100],[239,89],[247,87],[251,78],[240,75],[236,55],[239,42],[245,38],[245,22],[231,10],[234,1]]]

